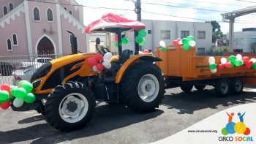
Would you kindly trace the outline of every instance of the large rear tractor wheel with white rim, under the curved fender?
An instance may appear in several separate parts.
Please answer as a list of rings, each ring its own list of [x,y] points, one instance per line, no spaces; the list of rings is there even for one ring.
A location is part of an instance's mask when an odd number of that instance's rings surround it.
[[[121,93],[125,104],[138,113],[151,112],[165,94],[161,70],[154,64],[141,62],[124,74]]]

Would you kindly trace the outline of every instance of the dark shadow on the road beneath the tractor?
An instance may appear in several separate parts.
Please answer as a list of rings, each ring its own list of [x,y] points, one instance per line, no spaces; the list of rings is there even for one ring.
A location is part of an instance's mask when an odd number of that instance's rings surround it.
[[[97,107],[91,122],[86,128],[75,132],[59,132],[53,129],[50,124],[37,124],[22,129],[15,129],[7,132],[0,132],[1,143],[17,143],[26,140],[34,140],[32,143],[61,143],[64,141],[78,139],[80,137],[89,137],[92,135],[110,132],[124,126],[146,121],[155,118],[163,113],[162,110],[154,110],[152,113],[134,113],[124,105],[102,105]],[[37,118],[26,118],[19,121],[19,124],[30,123]],[[36,120],[36,121],[37,121]]]

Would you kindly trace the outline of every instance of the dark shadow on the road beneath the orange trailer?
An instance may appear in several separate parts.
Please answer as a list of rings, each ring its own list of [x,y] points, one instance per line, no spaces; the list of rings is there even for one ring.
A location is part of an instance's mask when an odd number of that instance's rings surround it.
[[[214,89],[204,91],[192,91],[187,94],[165,95],[163,105],[169,109],[179,110],[178,114],[193,114],[196,110],[205,108],[217,109],[218,105],[228,107],[230,105],[245,104],[246,102],[255,102],[255,92],[243,92],[241,95],[229,95],[219,98],[215,96]]]

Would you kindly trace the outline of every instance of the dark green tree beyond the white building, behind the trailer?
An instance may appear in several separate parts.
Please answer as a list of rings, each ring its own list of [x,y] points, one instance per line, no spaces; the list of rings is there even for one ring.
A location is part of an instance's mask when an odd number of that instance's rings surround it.
[[[216,39],[221,39],[223,37],[220,25],[216,20],[206,21],[206,23],[211,23],[212,26],[212,42],[216,42]]]

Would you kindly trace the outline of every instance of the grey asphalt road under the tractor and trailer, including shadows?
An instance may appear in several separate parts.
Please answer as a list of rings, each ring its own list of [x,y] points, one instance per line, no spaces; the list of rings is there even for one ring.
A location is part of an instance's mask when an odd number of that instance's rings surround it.
[[[59,132],[36,111],[0,110],[0,143],[152,143],[228,107],[256,102],[256,89],[239,96],[217,98],[212,87],[190,94],[168,89],[153,113],[139,114],[124,105],[99,104],[86,128]]]

